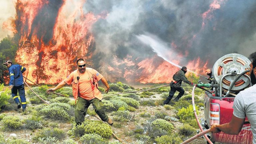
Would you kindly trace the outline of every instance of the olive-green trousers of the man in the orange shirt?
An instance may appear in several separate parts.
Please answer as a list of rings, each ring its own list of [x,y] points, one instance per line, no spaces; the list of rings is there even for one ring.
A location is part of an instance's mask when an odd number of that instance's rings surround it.
[[[81,97],[77,98],[76,102],[76,110],[75,110],[75,121],[76,123],[84,122],[84,117],[86,115],[87,109],[92,104],[93,109],[97,115],[101,118],[102,121],[108,121],[108,116],[105,114],[105,110],[102,108],[103,103],[101,100],[94,98],[92,100],[86,100]]]

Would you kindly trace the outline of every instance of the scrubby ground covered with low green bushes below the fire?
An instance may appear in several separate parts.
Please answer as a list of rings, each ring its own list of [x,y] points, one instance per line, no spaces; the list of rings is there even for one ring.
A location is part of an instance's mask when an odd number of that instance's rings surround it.
[[[48,88],[47,85],[43,87]],[[104,88],[99,87],[106,97],[102,100],[103,107],[113,119],[113,126],[99,121],[92,106],[88,108],[85,122],[75,126],[74,99],[47,95],[43,88],[33,87],[50,105],[44,104],[31,90],[26,90],[27,111],[21,112],[11,98],[10,90],[3,91],[1,85],[0,144],[121,144],[112,132],[127,144],[179,144],[196,134],[198,129],[192,108],[192,87],[184,84],[183,88],[186,92],[178,102],[171,100],[168,105],[163,105],[170,87],[109,97],[106,96],[139,89],[118,82],[110,84],[110,91],[105,94]],[[72,87],[63,87],[56,92],[73,97]],[[203,107],[203,91],[196,89],[195,94],[197,113],[202,114],[199,108]],[[199,139],[195,143],[201,142],[203,140]]]

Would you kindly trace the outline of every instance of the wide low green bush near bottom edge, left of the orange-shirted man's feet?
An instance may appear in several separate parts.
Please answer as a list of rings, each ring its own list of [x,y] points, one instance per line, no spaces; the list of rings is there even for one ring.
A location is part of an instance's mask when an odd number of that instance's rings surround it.
[[[33,137],[33,140],[38,141],[39,138],[47,138],[47,137],[52,137],[56,138],[58,140],[65,139],[66,133],[63,130],[60,130],[58,128],[44,128],[38,133],[36,133],[36,136]]]

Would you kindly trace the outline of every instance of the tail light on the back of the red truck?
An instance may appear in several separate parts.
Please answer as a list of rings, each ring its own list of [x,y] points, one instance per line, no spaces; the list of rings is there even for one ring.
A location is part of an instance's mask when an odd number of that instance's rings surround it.
[[[210,125],[213,123],[220,124],[220,105],[217,103],[210,103],[209,109]]]

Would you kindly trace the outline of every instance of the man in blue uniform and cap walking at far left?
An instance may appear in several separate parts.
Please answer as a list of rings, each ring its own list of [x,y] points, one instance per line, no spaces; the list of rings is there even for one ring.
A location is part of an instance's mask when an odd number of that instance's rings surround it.
[[[22,73],[26,71],[26,68],[18,64],[12,64],[12,60],[6,60],[3,64],[6,65],[9,70],[9,88],[11,88],[12,91],[12,98],[17,104],[18,109],[21,108],[22,105],[22,111],[24,112],[26,110],[26,97]],[[18,92],[21,103],[17,96]]]

